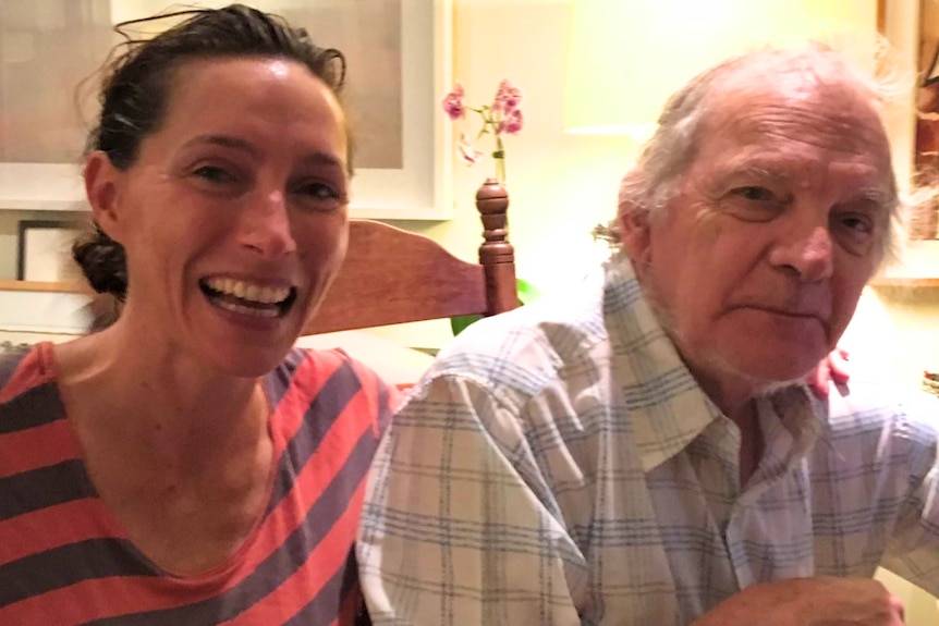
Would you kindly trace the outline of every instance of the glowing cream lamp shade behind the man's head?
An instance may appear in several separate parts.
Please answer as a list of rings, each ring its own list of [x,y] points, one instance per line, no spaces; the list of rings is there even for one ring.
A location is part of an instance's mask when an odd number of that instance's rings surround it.
[[[576,0],[564,126],[644,134],[695,74],[767,45],[851,41],[873,59],[877,0]],[[863,59],[858,59],[864,61]]]

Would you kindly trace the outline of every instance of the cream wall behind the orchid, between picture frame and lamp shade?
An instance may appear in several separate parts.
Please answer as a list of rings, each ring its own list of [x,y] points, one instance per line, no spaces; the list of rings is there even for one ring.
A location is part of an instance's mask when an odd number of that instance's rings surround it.
[[[505,139],[509,230],[517,274],[548,290],[596,266],[589,232],[614,216],[619,180],[636,152],[626,137],[563,132],[572,11],[571,0],[454,0],[453,77],[466,87],[467,103],[488,103],[503,77],[524,93],[525,127]],[[492,172],[488,157],[472,168],[458,163],[453,219],[399,225],[475,259],[483,228],[474,197]],[[382,334],[418,346],[440,346],[450,336],[442,322],[404,328]]]

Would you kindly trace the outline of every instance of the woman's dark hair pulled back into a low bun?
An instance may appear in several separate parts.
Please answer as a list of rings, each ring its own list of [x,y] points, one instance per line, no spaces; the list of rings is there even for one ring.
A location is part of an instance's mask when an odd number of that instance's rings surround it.
[[[127,27],[187,16],[153,39],[134,39]],[[190,61],[219,57],[282,58],[305,65],[334,94],[345,79],[339,50],[319,48],[303,28],[243,4],[196,9],[123,22],[120,44],[105,67],[98,96],[100,113],[88,134],[86,152],[101,150],[119,170],[137,159],[141,143],[157,132],[167,112],[173,72]],[[350,165],[351,167],[351,165]],[[92,287],[123,300],[127,291],[124,248],[97,224],[72,248]]]

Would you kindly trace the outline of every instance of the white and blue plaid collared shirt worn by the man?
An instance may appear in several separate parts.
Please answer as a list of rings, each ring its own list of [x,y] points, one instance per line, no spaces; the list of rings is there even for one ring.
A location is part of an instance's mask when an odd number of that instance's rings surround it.
[[[853,382],[757,401],[765,455],[656,322],[629,261],[475,324],[394,418],[357,557],[375,624],[684,625],[761,581],[939,591],[939,403]],[[755,623],[759,623],[758,616]]]

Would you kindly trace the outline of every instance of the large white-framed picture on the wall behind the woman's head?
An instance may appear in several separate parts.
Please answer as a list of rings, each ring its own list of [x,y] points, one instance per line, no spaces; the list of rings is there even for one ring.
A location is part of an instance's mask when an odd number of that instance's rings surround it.
[[[219,8],[229,0],[202,0]],[[341,50],[356,146],[351,213],[442,220],[452,205],[452,0],[255,0]],[[93,76],[120,41],[113,25],[164,12],[166,0],[0,3],[0,209],[83,210],[78,161],[97,107]],[[147,34],[172,25],[161,20]],[[76,108],[76,102],[78,107]],[[81,111],[81,114],[76,111]]]

